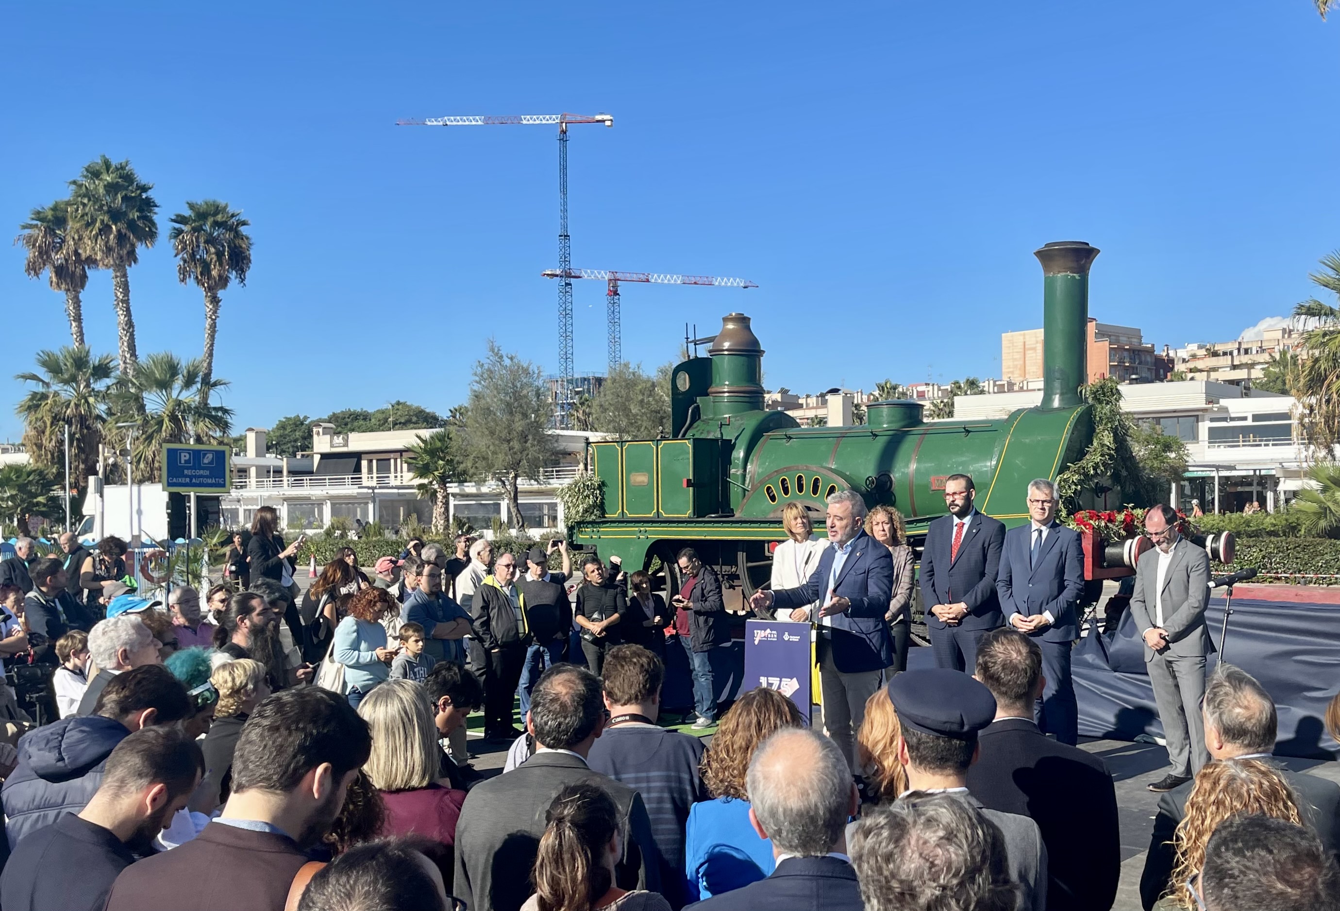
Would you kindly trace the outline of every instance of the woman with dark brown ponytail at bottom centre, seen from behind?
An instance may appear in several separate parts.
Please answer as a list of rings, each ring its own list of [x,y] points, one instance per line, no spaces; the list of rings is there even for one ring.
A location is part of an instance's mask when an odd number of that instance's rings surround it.
[[[603,788],[582,782],[560,790],[544,813],[531,875],[535,895],[521,911],[670,911],[657,892],[615,886],[619,821],[619,808]]]

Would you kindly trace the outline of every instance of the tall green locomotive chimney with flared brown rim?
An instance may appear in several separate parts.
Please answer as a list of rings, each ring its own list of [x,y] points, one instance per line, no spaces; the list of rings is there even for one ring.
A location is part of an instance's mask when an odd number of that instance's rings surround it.
[[[1088,271],[1099,249],[1081,240],[1044,244],[1033,251],[1043,264],[1043,407],[1080,403],[1088,382]]]

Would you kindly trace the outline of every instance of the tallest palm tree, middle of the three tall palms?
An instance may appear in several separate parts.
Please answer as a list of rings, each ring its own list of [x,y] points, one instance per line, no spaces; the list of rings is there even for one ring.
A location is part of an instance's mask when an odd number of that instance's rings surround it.
[[[111,269],[121,372],[130,378],[138,356],[129,269],[139,261],[139,248],[158,240],[158,204],[149,196],[154,185],[141,181],[129,161],[113,162],[100,155],[84,165],[70,188],[70,233],[91,263]]]

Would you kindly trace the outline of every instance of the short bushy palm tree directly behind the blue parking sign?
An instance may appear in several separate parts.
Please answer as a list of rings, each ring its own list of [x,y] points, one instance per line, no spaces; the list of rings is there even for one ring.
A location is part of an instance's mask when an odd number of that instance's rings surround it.
[[[228,386],[228,380],[210,379],[208,384],[202,380],[204,367],[198,358],[184,363],[177,355],[159,351],[145,358],[135,375],[114,393],[117,414],[137,422],[134,470],[138,481],[159,480],[165,443],[228,441],[233,410],[209,403],[210,395]]]

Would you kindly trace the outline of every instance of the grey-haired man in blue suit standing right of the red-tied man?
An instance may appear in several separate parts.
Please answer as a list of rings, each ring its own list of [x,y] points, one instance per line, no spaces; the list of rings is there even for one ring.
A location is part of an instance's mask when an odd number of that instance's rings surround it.
[[[1043,698],[1033,710],[1044,734],[1071,746],[1080,713],[1071,682],[1071,643],[1080,638],[1076,607],[1084,593],[1084,548],[1073,529],[1056,521],[1056,485],[1029,481],[1028,525],[1005,535],[996,592],[1005,622],[1043,650]]]

